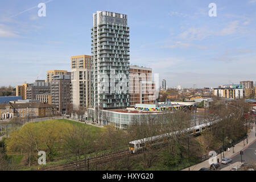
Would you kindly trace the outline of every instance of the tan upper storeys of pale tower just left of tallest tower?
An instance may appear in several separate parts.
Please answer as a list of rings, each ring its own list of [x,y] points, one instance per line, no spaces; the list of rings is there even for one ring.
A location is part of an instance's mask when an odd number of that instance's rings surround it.
[[[92,56],[81,55],[71,57],[71,69],[86,68],[92,69]]]

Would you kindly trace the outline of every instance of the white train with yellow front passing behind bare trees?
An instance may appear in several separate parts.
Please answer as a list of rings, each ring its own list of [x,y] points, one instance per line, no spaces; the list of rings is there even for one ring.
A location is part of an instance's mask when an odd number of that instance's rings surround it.
[[[181,133],[188,133],[188,135],[193,135],[197,136],[200,135],[202,131],[205,129],[209,129],[212,127],[212,125],[221,119],[214,120],[212,122],[207,122],[202,125],[197,125],[190,127],[188,129],[181,130]],[[162,135],[157,135],[155,137],[148,137],[148,138],[143,138],[143,139],[138,139],[129,142],[129,151],[131,154],[136,154],[137,152],[141,151],[144,146],[148,147],[149,145],[155,145],[155,144],[160,144],[166,142],[167,138],[170,137],[171,135],[177,134],[178,131],[174,131],[172,133],[166,133]]]

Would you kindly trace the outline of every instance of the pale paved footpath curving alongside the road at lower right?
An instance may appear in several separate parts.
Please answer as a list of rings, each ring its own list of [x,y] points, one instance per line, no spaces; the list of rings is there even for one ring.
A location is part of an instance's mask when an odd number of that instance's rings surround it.
[[[248,136],[248,144],[246,143],[246,139],[244,140],[245,141],[245,146],[243,146],[243,141],[240,142],[240,143],[237,143],[236,146],[234,147],[234,153],[233,153],[233,148],[230,148],[230,151],[227,150],[225,152],[225,154],[224,154],[225,158],[233,158],[233,156],[236,156],[236,155],[240,154],[241,150],[245,150],[251,143],[255,142],[255,140],[256,140],[255,128],[253,127],[253,130],[251,130],[251,133]],[[223,155],[223,152],[222,152],[222,155]],[[217,155],[217,159],[219,159],[220,162],[221,162],[221,155],[220,154]],[[205,168],[210,167],[209,160],[205,160],[202,163],[191,166],[190,171],[199,171],[199,169],[201,169],[203,167],[205,167]],[[185,168],[182,171],[189,171],[189,168]]]

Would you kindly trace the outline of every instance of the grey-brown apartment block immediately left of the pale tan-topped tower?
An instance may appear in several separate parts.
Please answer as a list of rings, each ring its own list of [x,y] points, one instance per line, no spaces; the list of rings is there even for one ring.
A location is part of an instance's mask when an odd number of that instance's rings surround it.
[[[68,73],[68,72],[67,72]],[[51,81],[51,104],[57,106],[61,114],[65,114],[67,105],[71,103],[71,75],[55,75]]]

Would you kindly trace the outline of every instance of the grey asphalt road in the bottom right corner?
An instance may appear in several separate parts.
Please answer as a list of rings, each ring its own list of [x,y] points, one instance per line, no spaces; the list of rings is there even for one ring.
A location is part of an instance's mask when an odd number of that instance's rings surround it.
[[[227,167],[230,164],[234,164],[236,162],[241,162],[241,155],[238,153],[237,155],[233,156],[232,162],[229,164],[220,164],[221,168]],[[255,163],[256,162],[256,141],[250,144],[250,146],[246,147],[245,150],[243,150],[242,155],[242,162],[243,163]]]

